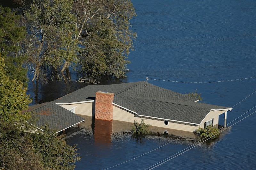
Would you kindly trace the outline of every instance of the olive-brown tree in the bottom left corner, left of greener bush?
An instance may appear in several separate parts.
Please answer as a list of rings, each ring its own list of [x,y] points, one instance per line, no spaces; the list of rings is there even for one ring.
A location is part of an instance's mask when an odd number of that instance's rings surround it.
[[[45,169],[28,133],[13,122],[1,122],[0,169]]]

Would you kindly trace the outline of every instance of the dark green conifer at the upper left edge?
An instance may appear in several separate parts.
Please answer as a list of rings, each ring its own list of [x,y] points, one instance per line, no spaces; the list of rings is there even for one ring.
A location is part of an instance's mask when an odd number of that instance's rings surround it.
[[[10,8],[0,6],[0,54],[5,59],[6,74],[27,85],[27,69],[23,68],[26,55],[20,54],[20,42],[26,36],[24,26],[19,26],[20,16]]]

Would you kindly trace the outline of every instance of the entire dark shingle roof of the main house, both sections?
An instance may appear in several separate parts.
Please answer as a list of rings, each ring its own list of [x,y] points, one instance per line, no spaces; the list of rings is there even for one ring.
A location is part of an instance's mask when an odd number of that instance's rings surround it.
[[[95,92],[114,93],[113,103],[138,115],[199,124],[211,109],[230,107],[194,102],[196,99],[144,81],[113,85],[88,85],[72,92],[55,103],[73,103],[95,100]]]

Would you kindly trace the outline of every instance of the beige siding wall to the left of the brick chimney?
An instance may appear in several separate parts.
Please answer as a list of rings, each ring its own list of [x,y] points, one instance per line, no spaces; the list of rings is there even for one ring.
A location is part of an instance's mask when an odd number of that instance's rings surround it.
[[[62,105],[61,105],[62,106]],[[78,115],[86,115],[86,116],[94,116],[95,112],[95,102],[88,102],[88,103],[80,103],[80,104],[71,104],[68,105],[69,107],[73,106],[75,108],[75,114]],[[67,107],[63,105],[62,107]]]

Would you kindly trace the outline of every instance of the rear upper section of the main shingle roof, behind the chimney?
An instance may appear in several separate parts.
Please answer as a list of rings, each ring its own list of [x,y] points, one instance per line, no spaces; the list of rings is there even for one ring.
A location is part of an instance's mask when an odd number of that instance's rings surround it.
[[[106,91],[114,93],[115,96],[122,94],[132,97],[141,97],[144,99],[162,99],[162,100],[184,100],[184,101],[195,101],[195,98],[189,97],[185,94],[173,92],[156,85],[145,82],[132,82],[132,83],[121,83],[113,85],[88,85],[84,88],[76,90],[75,92],[69,93],[57,100],[55,103],[73,103],[81,101],[89,101],[95,99],[95,92]],[[115,98],[114,98],[115,101]]]

